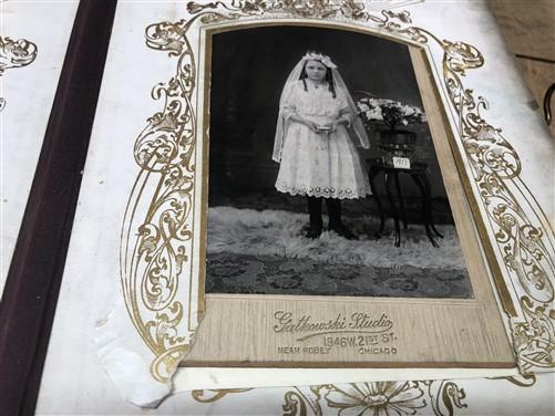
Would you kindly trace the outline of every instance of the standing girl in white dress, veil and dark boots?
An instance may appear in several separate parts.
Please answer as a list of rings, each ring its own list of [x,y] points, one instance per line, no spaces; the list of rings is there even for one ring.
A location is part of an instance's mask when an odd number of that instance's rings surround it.
[[[307,53],[281,93],[273,159],[280,163],[277,190],[307,196],[308,238],[322,232],[323,198],[329,229],[356,239],[341,221],[341,199],[371,194],[356,145],[368,148],[369,141],[337,66],[329,56]]]

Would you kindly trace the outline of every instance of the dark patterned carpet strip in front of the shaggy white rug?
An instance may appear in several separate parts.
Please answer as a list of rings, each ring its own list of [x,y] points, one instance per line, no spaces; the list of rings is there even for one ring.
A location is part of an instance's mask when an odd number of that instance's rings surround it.
[[[217,253],[207,259],[209,293],[471,298],[465,271],[372,268],[309,259]]]

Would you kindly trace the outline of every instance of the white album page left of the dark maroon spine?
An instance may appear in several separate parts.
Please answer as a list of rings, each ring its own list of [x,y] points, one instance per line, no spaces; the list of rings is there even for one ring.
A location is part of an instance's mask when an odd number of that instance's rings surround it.
[[[4,72],[1,96],[1,257],[0,295],[31,189],[78,2],[3,1],[1,34],[38,45],[28,66]]]

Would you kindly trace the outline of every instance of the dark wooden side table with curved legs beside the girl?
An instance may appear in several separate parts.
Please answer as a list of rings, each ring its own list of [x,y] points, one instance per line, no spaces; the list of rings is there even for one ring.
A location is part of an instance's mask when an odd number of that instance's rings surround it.
[[[380,229],[376,233],[378,238],[381,238],[383,229],[386,226],[386,216],[383,212],[383,205],[378,195],[376,188],[376,178],[380,173],[383,173],[383,184],[386,193],[388,196],[388,202],[391,208],[391,214],[393,216],[393,221],[395,225],[395,247],[401,246],[401,226],[400,221],[403,221],[403,229],[408,228],[407,217],[404,212],[403,196],[401,194],[401,186],[399,184],[399,175],[409,175],[414,184],[417,184],[420,189],[420,195],[422,196],[422,220],[425,228],[425,233],[434,247],[439,247],[435,241],[435,237],[443,238],[443,236],[435,229],[432,220],[432,196],[430,191],[430,180],[428,178],[428,165],[421,162],[414,162],[411,164],[409,169],[394,168],[393,166],[388,166],[383,164],[381,158],[370,158],[367,159],[368,163],[368,178],[370,179],[370,188],[372,189],[373,197],[376,198],[376,204],[378,205],[378,211],[380,212]],[[395,184],[397,198],[399,199],[398,210],[394,198],[392,183]]]

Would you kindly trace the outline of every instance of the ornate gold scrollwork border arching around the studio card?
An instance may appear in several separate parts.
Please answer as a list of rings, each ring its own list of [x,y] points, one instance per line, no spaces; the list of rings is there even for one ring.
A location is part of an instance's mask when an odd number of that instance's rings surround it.
[[[198,77],[187,33],[197,23],[275,18],[348,22],[413,44],[441,48],[442,87],[458,117],[456,139],[463,145],[475,202],[490,232],[484,245],[511,316],[518,364],[523,372],[555,366],[554,232],[521,178],[515,149],[500,128],[483,118],[486,101],[463,83],[467,71],[483,65],[476,48],[441,40],[412,25],[407,11],[374,14],[353,0],[191,1],[187,11],[192,15],[188,20],[157,23],[146,30],[147,45],[175,56],[177,70],[168,82],[153,90],[153,98],[163,98],[164,108],[148,119],[135,142],[140,171],[122,227],[125,303],[155,355],[152,373],[157,379],[167,379],[193,342],[198,319],[193,312],[202,313],[203,309],[198,299],[202,290],[195,289],[191,273],[197,131],[193,92]]]

